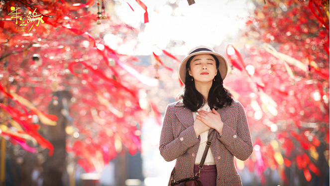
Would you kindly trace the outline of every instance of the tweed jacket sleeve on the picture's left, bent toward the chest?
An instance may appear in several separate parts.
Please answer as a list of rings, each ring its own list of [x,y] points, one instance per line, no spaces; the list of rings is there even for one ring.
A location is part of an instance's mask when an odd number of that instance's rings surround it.
[[[196,136],[194,125],[187,127],[179,134],[179,137],[174,138],[172,131],[171,110],[173,105],[168,105],[166,108],[162,131],[160,134],[159,151],[165,161],[173,161],[188,148],[200,142]]]

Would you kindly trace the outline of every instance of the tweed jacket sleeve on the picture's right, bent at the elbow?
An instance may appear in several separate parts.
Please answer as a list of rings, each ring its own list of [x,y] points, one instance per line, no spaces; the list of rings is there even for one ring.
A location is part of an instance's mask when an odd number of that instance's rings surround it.
[[[237,101],[238,102],[238,101]],[[246,160],[253,152],[250,129],[247,124],[244,108],[240,102],[237,107],[237,129],[223,124],[222,134],[217,132],[218,139],[239,160]]]

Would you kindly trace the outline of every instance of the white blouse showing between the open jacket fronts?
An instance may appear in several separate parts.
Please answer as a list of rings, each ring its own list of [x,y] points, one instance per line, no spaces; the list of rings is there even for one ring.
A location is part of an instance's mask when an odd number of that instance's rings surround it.
[[[207,103],[204,104],[203,107],[198,109],[198,111],[200,111],[200,110],[211,112],[211,109],[210,109],[210,107]],[[196,112],[193,112],[193,116],[194,116],[194,121],[195,121],[196,120]],[[201,142],[200,142],[200,146],[198,147],[196,160],[195,160],[195,165],[199,165],[201,163],[201,160],[202,160],[202,157],[203,157],[203,154],[204,154],[204,151],[205,151],[205,147],[206,147],[206,142],[208,140],[208,134],[209,134],[209,130],[201,133]],[[212,154],[211,148],[209,148],[208,155],[206,156],[204,165],[216,165],[216,161],[215,161],[214,156]]]

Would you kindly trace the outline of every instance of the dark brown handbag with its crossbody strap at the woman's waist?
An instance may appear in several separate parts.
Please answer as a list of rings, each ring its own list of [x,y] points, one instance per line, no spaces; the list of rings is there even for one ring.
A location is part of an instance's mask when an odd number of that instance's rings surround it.
[[[209,148],[211,147],[211,144],[212,144],[211,140],[212,140],[213,135],[214,135],[214,130],[212,130],[212,132],[210,133],[210,136],[208,138],[208,141],[206,142],[206,148],[204,150],[204,154],[203,154],[201,163],[198,166],[200,168],[200,170],[198,171],[198,173],[196,173],[195,177],[190,177],[190,178],[185,178],[185,179],[182,179],[179,181],[175,181],[173,179],[173,177],[175,175],[175,167],[174,167],[173,171],[171,173],[171,177],[172,177],[171,186],[203,186],[201,181],[199,181],[198,179],[201,176],[201,174],[200,174],[201,169],[203,169],[206,155],[208,154]]]

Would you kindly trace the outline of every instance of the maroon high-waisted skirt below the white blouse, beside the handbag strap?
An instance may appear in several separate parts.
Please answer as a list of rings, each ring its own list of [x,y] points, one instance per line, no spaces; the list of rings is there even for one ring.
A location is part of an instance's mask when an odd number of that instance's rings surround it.
[[[194,175],[200,169],[199,165],[194,166]],[[202,182],[203,186],[216,186],[217,182],[217,165],[204,165],[200,172],[201,176],[198,179]]]

